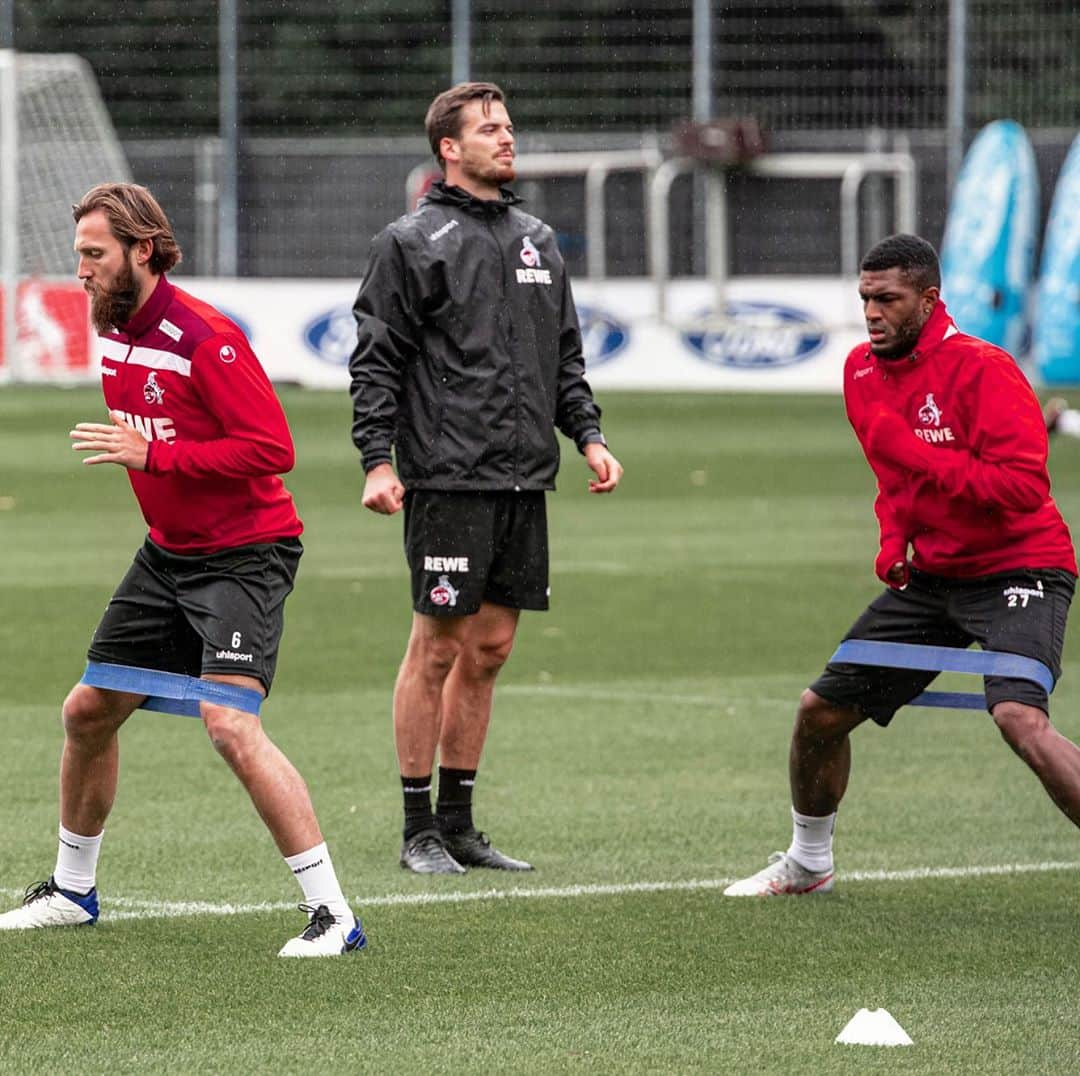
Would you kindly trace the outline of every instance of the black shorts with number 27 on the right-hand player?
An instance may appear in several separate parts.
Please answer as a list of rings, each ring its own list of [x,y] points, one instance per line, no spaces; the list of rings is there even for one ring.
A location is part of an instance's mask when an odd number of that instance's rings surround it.
[[[912,571],[904,590],[887,590],[852,624],[845,638],[923,646],[967,647],[1018,654],[1062,674],[1065,622],[1076,576],[1057,568],[1002,571],[974,579],[947,579]],[[823,699],[850,707],[878,725],[920,695],[939,673],[917,669],[829,663],[810,689]],[[1023,702],[1050,712],[1038,684],[1008,676],[986,676],[986,708]]]

